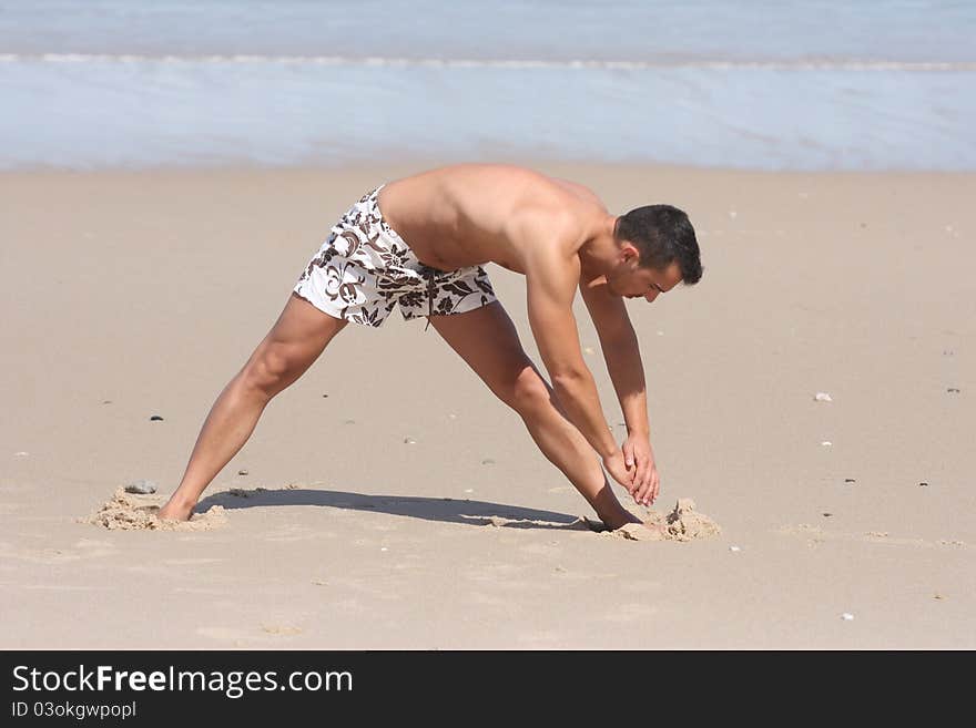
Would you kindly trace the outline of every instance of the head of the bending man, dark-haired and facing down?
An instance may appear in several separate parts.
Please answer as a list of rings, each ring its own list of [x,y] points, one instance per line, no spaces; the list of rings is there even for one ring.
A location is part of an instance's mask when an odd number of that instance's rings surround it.
[[[679,283],[690,286],[701,279],[694,228],[677,207],[645,205],[632,209],[617,218],[613,237],[618,258],[607,283],[620,296],[641,296],[652,301]]]

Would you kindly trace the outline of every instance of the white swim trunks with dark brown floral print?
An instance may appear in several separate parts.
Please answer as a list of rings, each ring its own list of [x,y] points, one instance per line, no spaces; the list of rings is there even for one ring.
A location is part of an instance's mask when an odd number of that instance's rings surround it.
[[[343,215],[294,291],[329,316],[367,326],[383,325],[397,304],[409,320],[464,314],[496,300],[481,266],[446,271],[417,259],[383,219],[383,186]]]

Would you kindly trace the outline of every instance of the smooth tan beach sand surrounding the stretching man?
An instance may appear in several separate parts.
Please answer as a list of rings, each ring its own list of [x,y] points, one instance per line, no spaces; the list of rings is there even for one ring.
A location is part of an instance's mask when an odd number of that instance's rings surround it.
[[[701,284],[630,304],[662,479],[630,507],[667,541],[594,533],[396,317],[151,527],[329,226],[424,166],[0,175],[0,647],[976,647],[974,175],[538,165],[699,230]],[[538,361],[521,278],[490,274]]]

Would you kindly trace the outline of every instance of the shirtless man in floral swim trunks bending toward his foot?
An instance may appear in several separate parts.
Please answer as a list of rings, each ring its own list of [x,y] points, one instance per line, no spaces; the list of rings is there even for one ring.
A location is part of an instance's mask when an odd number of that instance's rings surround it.
[[[496,300],[486,263],[525,275],[529,324],[551,387]],[[603,473],[606,468],[639,504],[658,496],[643,365],[623,298],[651,303],[682,281],[697,283],[701,273],[694,229],[669,205],[618,217],[581,185],[505,165],[448,166],[383,185],[333,228],[277,322],[221,392],[160,517],[190,517],[268,401],[348,321],[379,326],[399,305],[405,318],[427,316],[518,412],[607,526],[639,523]],[[583,363],[572,314],[577,288],[627,422],[622,445]]]

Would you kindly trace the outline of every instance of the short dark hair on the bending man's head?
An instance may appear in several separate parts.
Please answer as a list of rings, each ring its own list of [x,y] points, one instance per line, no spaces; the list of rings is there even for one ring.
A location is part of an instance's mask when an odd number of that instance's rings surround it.
[[[613,236],[640,252],[640,264],[662,270],[678,260],[685,285],[701,279],[701,253],[694,227],[682,211],[671,205],[645,205],[617,218]]]

